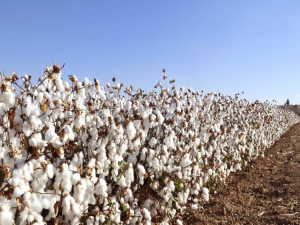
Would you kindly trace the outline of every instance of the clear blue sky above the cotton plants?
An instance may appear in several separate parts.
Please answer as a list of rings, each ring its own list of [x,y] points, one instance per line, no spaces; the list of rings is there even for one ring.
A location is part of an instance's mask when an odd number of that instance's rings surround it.
[[[300,103],[299,0],[2,0],[0,71]]]

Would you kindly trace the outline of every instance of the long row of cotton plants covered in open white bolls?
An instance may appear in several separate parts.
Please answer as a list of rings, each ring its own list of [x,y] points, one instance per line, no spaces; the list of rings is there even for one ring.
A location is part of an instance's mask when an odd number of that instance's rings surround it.
[[[163,79],[166,79],[163,73]],[[299,117],[268,102],[100,85],[55,63],[0,76],[3,224],[182,224]]]

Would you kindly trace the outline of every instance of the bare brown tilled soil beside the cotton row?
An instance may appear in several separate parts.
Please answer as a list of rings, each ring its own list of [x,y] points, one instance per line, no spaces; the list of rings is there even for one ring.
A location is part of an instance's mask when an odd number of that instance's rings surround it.
[[[300,224],[300,123],[264,155],[231,174],[203,208],[182,216],[184,223]]]

